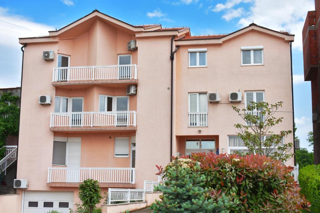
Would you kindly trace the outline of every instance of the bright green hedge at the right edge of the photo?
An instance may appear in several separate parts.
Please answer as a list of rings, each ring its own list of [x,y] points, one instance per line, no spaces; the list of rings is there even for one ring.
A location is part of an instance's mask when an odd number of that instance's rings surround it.
[[[320,212],[320,164],[308,165],[299,171],[299,185],[301,194],[304,194],[311,203],[312,212]]]

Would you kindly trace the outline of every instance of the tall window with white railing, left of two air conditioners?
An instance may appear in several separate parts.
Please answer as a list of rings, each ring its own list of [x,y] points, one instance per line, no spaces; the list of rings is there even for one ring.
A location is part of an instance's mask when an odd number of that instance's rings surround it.
[[[208,126],[206,93],[189,93],[189,126]]]

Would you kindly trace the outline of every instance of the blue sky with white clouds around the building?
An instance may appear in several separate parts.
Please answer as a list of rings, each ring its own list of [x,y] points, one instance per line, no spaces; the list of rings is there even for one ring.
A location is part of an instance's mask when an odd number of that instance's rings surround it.
[[[188,26],[191,34],[231,33],[254,23],[295,34],[292,46],[294,107],[301,147],[311,123],[311,86],[303,81],[302,27],[313,0],[7,1],[0,0],[0,88],[20,85],[18,37],[59,29],[97,9],[132,25]],[[290,88],[288,88],[290,89]]]

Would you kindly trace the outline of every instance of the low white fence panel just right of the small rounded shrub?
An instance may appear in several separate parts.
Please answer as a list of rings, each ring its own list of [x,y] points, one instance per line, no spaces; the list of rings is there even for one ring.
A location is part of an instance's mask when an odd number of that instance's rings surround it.
[[[145,201],[144,189],[115,189],[109,188],[108,191],[108,205],[116,203],[130,203]]]

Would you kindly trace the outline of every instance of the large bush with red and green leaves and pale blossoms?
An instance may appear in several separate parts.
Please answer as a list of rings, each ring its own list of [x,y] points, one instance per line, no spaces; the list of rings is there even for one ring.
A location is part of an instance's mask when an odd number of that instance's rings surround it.
[[[211,196],[236,196],[240,212],[301,212],[310,206],[300,196],[291,170],[270,157],[195,153],[190,160],[200,163],[204,186],[215,189]]]

